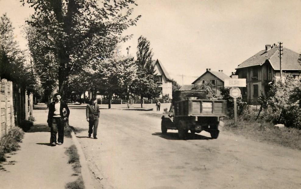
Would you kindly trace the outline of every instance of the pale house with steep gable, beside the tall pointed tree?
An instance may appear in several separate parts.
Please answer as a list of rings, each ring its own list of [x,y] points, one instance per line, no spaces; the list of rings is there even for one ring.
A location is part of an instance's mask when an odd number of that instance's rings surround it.
[[[172,78],[168,75],[168,72],[164,68],[161,61],[154,60],[152,65],[155,70],[155,81],[157,82],[158,88],[161,90],[160,97],[167,96],[168,99],[172,98]]]

